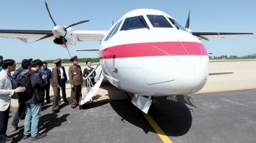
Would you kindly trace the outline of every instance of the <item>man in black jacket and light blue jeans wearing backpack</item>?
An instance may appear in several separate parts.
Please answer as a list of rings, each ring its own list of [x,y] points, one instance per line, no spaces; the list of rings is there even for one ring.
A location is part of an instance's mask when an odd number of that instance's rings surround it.
[[[42,61],[34,60],[31,62],[31,70],[26,74],[30,75],[31,85],[34,91],[42,91],[45,89],[45,77],[38,74],[42,68]],[[36,100],[35,94],[28,100],[26,104],[26,117],[24,122],[23,139],[28,139],[31,136],[31,141],[45,137],[46,134],[39,133],[39,118],[41,116],[42,103]]]

